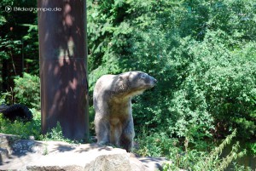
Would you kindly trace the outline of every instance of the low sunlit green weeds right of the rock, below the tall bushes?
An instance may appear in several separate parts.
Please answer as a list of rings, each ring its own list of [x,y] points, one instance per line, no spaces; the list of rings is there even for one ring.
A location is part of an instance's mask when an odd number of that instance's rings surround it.
[[[222,151],[236,136],[236,130],[217,147],[208,149],[210,152],[201,151],[193,145],[186,145],[186,137],[183,148],[180,140],[168,138],[167,134],[150,134],[143,132],[138,138],[140,149],[137,151],[142,156],[166,156],[172,162],[166,163],[164,170],[224,170],[238,157],[245,155],[246,151],[239,151],[239,143],[232,145],[229,154],[222,157]],[[206,143],[206,142],[205,142]],[[184,149],[184,150],[183,150]]]

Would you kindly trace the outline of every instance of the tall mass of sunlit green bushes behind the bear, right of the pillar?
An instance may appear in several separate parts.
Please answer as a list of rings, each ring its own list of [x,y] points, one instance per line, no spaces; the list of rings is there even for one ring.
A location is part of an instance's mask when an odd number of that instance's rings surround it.
[[[158,80],[133,116],[154,132],[194,140],[237,128],[255,137],[255,8],[252,1],[88,3],[90,93],[103,74],[139,70]],[[194,127],[197,125],[198,127]]]

